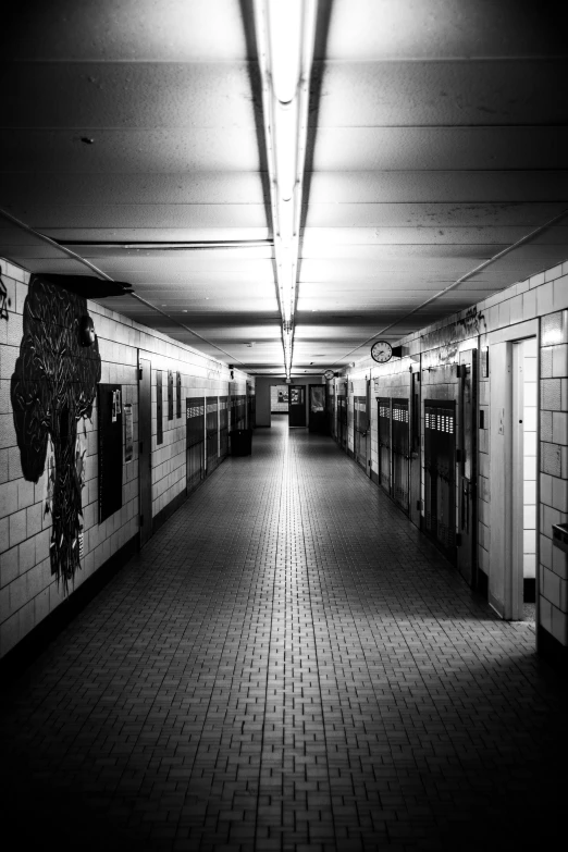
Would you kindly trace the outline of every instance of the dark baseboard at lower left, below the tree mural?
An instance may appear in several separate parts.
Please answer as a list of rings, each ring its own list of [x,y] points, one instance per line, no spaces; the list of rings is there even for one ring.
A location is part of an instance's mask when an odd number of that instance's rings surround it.
[[[15,680],[45,650],[46,646],[89,604],[94,597],[124,568],[139,551],[136,533],[126,544],[107,559],[78,589],[39,622],[17,645],[0,659],[2,682]]]

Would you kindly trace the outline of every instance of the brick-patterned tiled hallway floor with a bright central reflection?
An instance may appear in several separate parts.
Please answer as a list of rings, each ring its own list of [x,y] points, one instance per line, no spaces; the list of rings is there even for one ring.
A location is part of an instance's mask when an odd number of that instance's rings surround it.
[[[8,849],[564,848],[533,645],[330,439],[257,430],[8,692]]]

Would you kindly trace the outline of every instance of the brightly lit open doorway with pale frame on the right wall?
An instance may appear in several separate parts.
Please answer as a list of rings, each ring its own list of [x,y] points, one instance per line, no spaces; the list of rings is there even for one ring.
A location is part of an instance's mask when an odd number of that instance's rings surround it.
[[[538,534],[536,337],[495,344],[490,355],[489,602],[508,621],[533,621]]]

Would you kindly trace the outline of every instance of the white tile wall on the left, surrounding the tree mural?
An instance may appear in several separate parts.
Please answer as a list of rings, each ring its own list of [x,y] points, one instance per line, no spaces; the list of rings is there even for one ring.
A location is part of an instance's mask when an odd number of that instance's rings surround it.
[[[0,655],[64,600],[49,560],[50,516],[44,514],[44,478],[37,485],[22,476],[20,450],[10,406],[10,379],[22,339],[22,314],[29,274],[0,259],[0,272],[11,301],[8,321],[0,321]],[[138,349],[152,362],[152,511],[156,515],[185,489],[185,397],[226,395],[225,365],[138,325],[107,307],[88,302],[101,355],[101,381],[122,385],[123,402],[133,404],[134,457],[123,466],[123,506],[98,523],[97,404],[86,421],[87,465],[83,491],[84,558],[74,588],[96,571],[138,531]],[[182,417],[168,420],[164,385],[163,444],[156,445],[156,370],[182,373]],[[245,393],[246,375],[235,372],[235,393]],[[174,386],[174,394],[175,394]]]

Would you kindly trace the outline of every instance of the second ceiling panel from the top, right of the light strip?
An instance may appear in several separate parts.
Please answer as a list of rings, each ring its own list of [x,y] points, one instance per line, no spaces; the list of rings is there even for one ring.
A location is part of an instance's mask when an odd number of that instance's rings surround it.
[[[320,62],[312,121],[320,128],[554,125],[564,122],[567,81],[567,61],[548,58]]]

